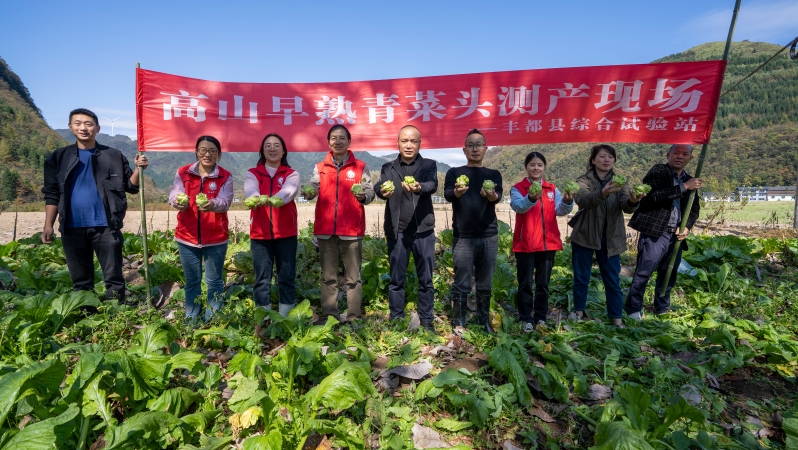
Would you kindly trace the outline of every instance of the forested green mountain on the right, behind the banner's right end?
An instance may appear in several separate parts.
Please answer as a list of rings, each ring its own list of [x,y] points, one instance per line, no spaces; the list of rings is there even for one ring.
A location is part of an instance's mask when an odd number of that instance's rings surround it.
[[[654,62],[720,59],[723,42],[710,42]],[[763,42],[732,44],[723,92],[770,58],[781,47]],[[732,185],[794,185],[798,169],[798,61],[782,53],[720,100],[702,176]],[[617,170],[641,179],[665,161],[666,145],[610,143],[618,150]],[[493,147],[485,164],[502,172],[505,183],[524,175],[530,151],[546,156],[546,177],[562,184],[585,172],[593,143]],[[700,148],[696,148],[697,156]],[[695,170],[695,162],[688,171]]]

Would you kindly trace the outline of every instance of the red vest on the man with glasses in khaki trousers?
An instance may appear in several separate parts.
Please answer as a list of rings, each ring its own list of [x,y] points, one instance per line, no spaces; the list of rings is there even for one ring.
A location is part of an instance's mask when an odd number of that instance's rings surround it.
[[[366,234],[366,209],[350,191],[352,185],[359,184],[363,178],[366,163],[355,159],[349,152],[349,159],[339,171],[332,160],[332,152],[324,161],[316,164],[319,171],[319,197],[316,200],[316,221],[314,234],[336,236],[363,236]]]

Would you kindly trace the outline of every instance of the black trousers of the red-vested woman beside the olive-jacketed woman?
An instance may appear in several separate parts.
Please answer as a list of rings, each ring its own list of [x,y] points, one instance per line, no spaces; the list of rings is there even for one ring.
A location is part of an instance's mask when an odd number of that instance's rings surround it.
[[[522,322],[536,323],[546,320],[549,312],[549,278],[551,268],[554,267],[555,253],[552,250],[515,254],[518,267],[518,313]]]

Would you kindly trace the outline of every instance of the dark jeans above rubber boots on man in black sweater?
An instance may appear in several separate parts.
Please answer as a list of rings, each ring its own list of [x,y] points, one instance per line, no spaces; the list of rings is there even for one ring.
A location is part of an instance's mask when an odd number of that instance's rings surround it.
[[[490,291],[498,253],[498,235],[484,238],[454,238],[452,242],[452,260],[454,262],[452,292],[470,294],[472,274],[474,283],[477,285],[477,292]]]

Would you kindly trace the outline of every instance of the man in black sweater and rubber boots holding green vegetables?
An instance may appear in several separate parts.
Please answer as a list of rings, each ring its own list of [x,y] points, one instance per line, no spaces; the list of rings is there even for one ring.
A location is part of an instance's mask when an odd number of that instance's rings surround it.
[[[473,274],[477,288],[477,318],[479,324],[492,333],[491,282],[499,251],[496,204],[501,201],[503,191],[501,173],[482,166],[487,150],[485,136],[477,129],[469,131],[463,146],[468,162],[446,172],[443,195],[452,204],[454,231],[452,324],[466,325]]]

